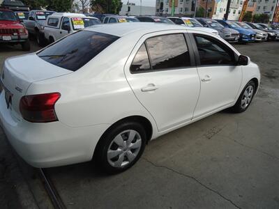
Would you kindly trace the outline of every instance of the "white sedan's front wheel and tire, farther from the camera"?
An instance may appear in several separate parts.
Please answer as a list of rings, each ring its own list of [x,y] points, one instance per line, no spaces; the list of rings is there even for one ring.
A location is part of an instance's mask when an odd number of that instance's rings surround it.
[[[255,82],[250,81],[243,88],[243,91],[239,95],[239,99],[236,101],[236,104],[231,108],[234,113],[241,113],[246,111],[252,102],[252,98],[254,98],[256,92]]]

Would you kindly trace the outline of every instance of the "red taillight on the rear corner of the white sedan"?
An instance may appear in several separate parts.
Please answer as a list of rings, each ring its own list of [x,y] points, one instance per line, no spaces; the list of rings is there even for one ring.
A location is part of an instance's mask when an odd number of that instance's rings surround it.
[[[60,96],[60,93],[25,95],[20,100],[22,117],[32,123],[58,121],[54,104]]]

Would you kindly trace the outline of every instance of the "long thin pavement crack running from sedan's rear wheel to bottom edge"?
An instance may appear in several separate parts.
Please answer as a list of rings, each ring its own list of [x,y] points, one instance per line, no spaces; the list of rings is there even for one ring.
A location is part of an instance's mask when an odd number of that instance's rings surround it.
[[[195,180],[195,182],[198,183],[199,185],[202,185],[202,187],[204,187],[206,189],[209,189],[211,192],[213,192],[215,194],[218,194],[218,196],[220,196],[221,198],[225,199],[226,201],[229,201],[229,203],[231,203],[234,207],[241,209],[241,207],[237,206],[236,203],[234,203],[232,200],[227,199],[227,197],[223,196],[223,194],[220,194],[220,192],[218,192],[218,191],[216,191],[214,189],[211,189],[210,187],[204,185],[204,183],[202,183],[199,180],[197,180],[197,178],[195,178],[193,176],[189,176],[189,175],[184,174],[184,173],[180,173],[179,171],[176,171],[176,170],[171,169],[169,167],[165,167],[165,166],[162,166],[162,165],[155,164],[155,163],[151,162],[150,160],[146,159],[145,157],[142,157],[142,159],[145,160],[146,162],[149,162],[149,164],[153,165],[154,167],[158,167],[158,168],[162,168],[162,169],[167,169],[167,170],[172,171],[172,172],[174,172],[176,174],[179,174],[180,176],[184,176],[186,178],[190,178],[192,180]]]

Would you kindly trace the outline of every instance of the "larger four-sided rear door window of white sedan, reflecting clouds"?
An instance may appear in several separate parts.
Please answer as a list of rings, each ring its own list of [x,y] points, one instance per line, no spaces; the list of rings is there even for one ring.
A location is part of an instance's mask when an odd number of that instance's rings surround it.
[[[146,40],[152,70],[190,66],[190,55],[183,34],[156,36]]]

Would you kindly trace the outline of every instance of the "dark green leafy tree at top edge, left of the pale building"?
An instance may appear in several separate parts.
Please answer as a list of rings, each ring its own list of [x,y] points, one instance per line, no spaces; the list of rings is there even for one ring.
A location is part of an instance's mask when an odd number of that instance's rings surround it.
[[[122,7],[121,0],[91,0],[93,10],[100,13],[119,14]]]

